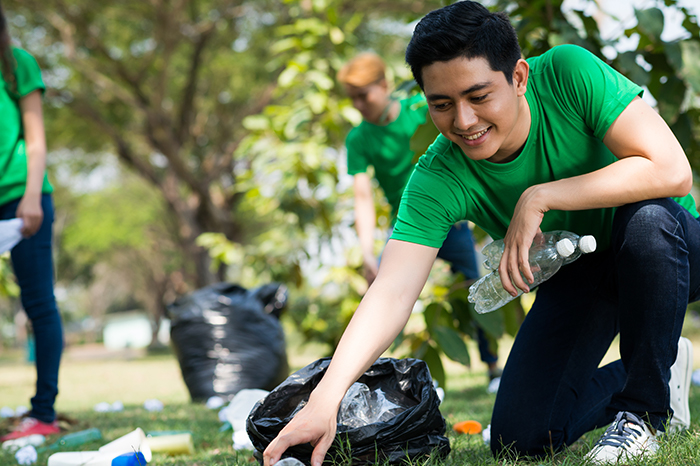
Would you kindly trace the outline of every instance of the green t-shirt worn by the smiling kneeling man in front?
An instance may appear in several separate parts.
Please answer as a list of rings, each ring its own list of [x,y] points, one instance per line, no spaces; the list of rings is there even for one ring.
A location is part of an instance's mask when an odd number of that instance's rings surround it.
[[[573,45],[555,47],[528,63],[525,97],[532,124],[520,155],[501,164],[475,161],[438,136],[406,186],[393,239],[437,248],[450,226],[463,219],[501,239],[526,188],[590,173],[617,160],[602,139],[642,89]],[[676,200],[698,216],[690,195]],[[603,250],[614,212],[549,211],[540,227],[594,235]]]

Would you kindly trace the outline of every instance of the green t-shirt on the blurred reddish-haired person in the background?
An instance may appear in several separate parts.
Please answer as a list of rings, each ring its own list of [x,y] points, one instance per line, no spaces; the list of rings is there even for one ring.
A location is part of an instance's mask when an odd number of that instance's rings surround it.
[[[396,217],[403,188],[414,166],[411,136],[425,123],[428,111],[422,94],[400,102],[401,111],[394,121],[384,126],[363,121],[350,131],[345,140],[348,173],[365,173],[367,167],[372,165],[374,176],[391,206],[392,217]]]

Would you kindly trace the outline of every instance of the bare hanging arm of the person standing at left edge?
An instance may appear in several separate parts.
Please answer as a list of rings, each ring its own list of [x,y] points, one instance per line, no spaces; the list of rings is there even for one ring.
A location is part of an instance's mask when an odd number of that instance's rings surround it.
[[[41,108],[41,91],[32,91],[19,101],[27,150],[27,186],[17,206],[16,216],[24,221],[22,235],[37,232],[44,219],[41,189],[46,171],[46,136]]]

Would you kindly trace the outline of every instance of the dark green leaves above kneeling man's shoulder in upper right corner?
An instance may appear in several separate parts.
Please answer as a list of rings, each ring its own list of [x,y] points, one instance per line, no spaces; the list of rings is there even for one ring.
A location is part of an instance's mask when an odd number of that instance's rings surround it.
[[[635,10],[637,24],[624,31],[638,38],[634,50],[612,52],[623,37],[603,40],[597,22],[583,11],[564,13],[563,0],[500,0],[507,9],[527,57],[539,55],[562,43],[578,44],[609,63],[635,83],[646,86],[658,104],[660,115],[671,126],[691,165],[700,169],[700,26],[698,19],[677,0],[664,7],[683,18],[685,37],[661,39],[664,15],[659,8]],[[603,51],[606,49],[609,58]]]

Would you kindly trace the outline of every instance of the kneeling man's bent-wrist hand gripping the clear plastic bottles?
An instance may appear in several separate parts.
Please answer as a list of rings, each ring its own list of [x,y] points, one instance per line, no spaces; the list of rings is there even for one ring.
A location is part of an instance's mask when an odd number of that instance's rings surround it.
[[[503,238],[503,257],[498,273],[503,288],[512,296],[518,295],[517,288],[529,292],[529,285],[535,281],[530,270],[530,246],[541,235],[540,224],[548,210],[542,202],[540,186],[542,185],[531,186],[520,196]],[[523,280],[523,276],[529,283]]]

